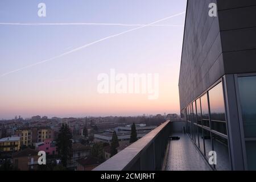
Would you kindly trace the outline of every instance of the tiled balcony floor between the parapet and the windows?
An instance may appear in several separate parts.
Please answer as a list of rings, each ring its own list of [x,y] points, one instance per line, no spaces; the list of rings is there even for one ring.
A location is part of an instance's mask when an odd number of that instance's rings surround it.
[[[187,134],[175,133],[172,136],[180,139],[170,141],[166,171],[212,170]]]

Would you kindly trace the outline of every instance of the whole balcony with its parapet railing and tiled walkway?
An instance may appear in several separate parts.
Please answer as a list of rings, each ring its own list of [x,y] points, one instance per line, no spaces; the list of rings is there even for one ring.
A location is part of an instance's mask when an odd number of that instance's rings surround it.
[[[184,134],[184,125],[183,120],[167,121],[93,170],[212,170],[192,140]],[[169,136],[180,139],[169,140]]]

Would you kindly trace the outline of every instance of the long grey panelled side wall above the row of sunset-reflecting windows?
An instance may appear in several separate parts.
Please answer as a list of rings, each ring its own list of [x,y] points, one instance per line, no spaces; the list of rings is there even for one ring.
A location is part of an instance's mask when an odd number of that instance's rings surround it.
[[[224,75],[220,27],[210,17],[209,3],[216,0],[188,0],[180,65],[180,109],[200,96]]]

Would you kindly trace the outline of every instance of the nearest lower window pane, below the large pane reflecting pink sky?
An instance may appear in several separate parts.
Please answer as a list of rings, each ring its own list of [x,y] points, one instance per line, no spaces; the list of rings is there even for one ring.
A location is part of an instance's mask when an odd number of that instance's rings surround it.
[[[229,171],[230,162],[228,140],[214,133],[212,133],[212,140],[214,151],[216,151],[217,154],[217,164],[215,165],[216,169],[219,171]]]

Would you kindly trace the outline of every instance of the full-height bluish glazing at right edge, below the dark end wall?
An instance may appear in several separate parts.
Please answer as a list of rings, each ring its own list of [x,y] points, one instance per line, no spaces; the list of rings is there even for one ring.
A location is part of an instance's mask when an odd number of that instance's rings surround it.
[[[247,168],[256,170],[256,76],[238,77]]]

